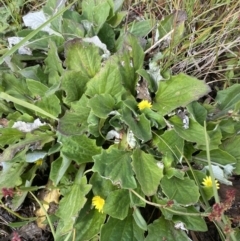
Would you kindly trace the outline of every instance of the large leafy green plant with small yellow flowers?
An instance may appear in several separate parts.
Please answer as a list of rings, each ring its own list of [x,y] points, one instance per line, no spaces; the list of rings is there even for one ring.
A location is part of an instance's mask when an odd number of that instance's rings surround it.
[[[230,184],[240,173],[240,85],[209,103],[208,84],[169,73],[187,38],[175,15],[122,24],[123,1],[82,1],[80,13],[56,3],[43,8],[51,18],[18,32],[23,39],[0,58],[0,196],[14,188],[12,212],[43,188],[32,183],[46,166],[46,188],[61,193],[46,215],[57,241],[185,241],[186,230],[207,231],[206,218],[222,240],[237,240],[224,215],[234,193],[220,200],[215,179]],[[149,40],[153,28],[159,44],[172,36],[162,53]],[[16,53],[23,46],[33,55]]]

